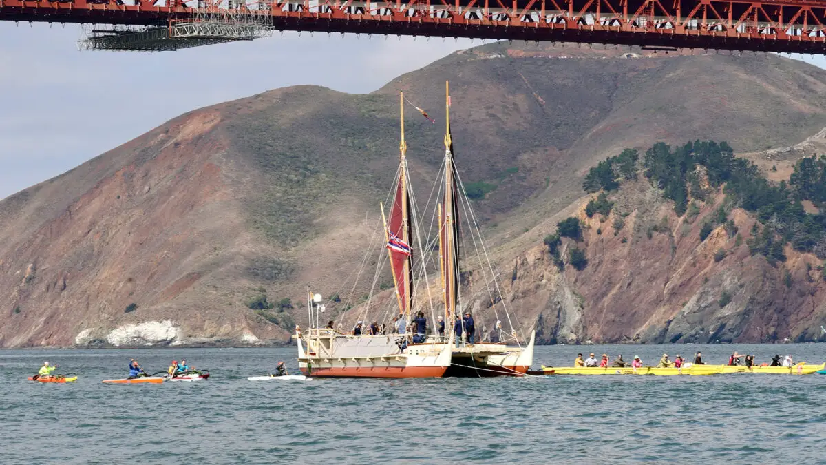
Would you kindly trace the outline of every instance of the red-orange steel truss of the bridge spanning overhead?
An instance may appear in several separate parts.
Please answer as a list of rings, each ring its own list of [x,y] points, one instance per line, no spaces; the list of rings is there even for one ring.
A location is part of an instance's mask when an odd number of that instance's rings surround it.
[[[826,54],[826,0],[0,0],[0,21],[160,25],[197,12],[282,31]]]

